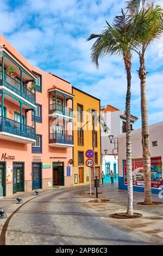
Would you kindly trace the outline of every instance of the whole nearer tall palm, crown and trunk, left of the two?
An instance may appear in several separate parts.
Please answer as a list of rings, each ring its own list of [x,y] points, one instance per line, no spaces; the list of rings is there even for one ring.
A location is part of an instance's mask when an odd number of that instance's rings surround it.
[[[131,51],[138,47],[135,38],[139,33],[139,16],[130,19],[122,10],[121,16],[116,16],[112,25],[107,21],[107,27],[101,34],[91,34],[87,41],[96,39],[91,47],[91,59],[97,66],[98,60],[104,56],[118,55],[123,57],[127,72],[127,95],[126,95],[126,160],[127,160],[127,184],[128,206],[126,215],[133,215],[133,178],[131,163],[131,131],[130,131],[130,97],[131,97]]]

